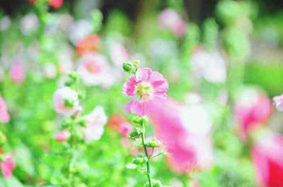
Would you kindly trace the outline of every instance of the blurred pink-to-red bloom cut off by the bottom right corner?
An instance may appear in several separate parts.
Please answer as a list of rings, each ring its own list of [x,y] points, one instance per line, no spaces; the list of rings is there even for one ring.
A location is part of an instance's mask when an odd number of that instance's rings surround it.
[[[258,183],[266,187],[283,186],[283,137],[267,133],[252,148],[253,164]]]

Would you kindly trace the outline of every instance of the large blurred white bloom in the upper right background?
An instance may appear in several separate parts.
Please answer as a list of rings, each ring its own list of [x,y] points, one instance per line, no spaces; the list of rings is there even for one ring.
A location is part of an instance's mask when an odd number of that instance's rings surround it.
[[[206,52],[202,49],[192,54],[192,72],[212,83],[226,82],[226,62],[219,52]]]

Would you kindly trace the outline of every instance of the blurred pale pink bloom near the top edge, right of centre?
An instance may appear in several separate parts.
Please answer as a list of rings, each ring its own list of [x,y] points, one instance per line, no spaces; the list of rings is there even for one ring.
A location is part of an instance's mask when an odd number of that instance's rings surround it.
[[[172,8],[166,8],[158,16],[159,25],[171,30],[175,35],[182,36],[186,32],[186,23]]]

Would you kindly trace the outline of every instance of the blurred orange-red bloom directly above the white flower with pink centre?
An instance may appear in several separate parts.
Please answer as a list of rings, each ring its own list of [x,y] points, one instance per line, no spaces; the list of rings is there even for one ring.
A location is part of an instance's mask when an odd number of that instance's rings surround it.
[[[89,35],[79,40],[79,44],[76,46],[76,52],[81,56],[88,54],[89,52],[96,52],[100,37],[98,35]]]

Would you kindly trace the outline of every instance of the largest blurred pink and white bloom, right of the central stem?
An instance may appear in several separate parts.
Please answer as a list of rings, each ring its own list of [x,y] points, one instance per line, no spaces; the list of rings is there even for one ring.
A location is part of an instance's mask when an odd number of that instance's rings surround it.
[[[151,107],[149,119],[156,138],[168,150],[166,161],[173,171],[185,173],[212,166],[212,122],[202,105],[168,99]]]

